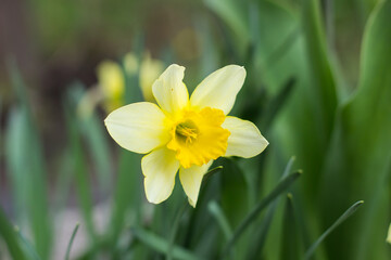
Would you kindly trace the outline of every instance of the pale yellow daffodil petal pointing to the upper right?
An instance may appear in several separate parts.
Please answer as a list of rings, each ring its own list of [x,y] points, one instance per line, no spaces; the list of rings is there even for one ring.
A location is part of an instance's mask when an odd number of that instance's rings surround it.
[[[200,108],[210,106],[227,115],[235,104],[236,96],[243,86],[244,67],[228,65],[207,76],[191,94],[190,103]]]

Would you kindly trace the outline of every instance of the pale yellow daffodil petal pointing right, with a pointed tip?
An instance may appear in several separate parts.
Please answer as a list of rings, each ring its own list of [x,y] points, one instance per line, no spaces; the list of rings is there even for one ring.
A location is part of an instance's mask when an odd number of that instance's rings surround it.
[[[262,153],[268,145],[267,140],[262,136],[260,130],[251,121],[228,116],[222,127],[231,133],[224,156],[250,158]]]

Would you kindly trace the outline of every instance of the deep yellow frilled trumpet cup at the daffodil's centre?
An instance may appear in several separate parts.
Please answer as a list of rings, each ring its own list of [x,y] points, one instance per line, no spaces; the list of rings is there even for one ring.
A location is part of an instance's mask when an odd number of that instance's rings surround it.
[[[184,110],[174,123],[167,147],[176,152],[184,168],[202,166],[226,153],[230,132],[222,128],[223,110],[205,107]]]

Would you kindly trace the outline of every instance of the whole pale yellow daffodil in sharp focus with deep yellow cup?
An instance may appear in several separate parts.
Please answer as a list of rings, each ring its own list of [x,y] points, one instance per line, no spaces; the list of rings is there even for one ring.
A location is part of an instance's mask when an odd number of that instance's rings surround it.
[[[245,69],[229,65],[207,76],[189,99],[185,67],[171,65],[152,87],[159,104],[139,102],[112,112],[104,120],[124,148],[147,154],[141,160],[147,199],[159,204],[172,194],[175,176],[195,207],[201,181],[220,156],[253,157],[268,142],[254,123],[227,116]]]

